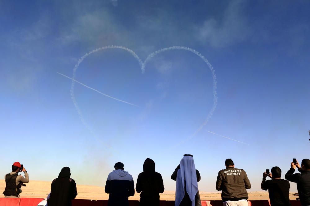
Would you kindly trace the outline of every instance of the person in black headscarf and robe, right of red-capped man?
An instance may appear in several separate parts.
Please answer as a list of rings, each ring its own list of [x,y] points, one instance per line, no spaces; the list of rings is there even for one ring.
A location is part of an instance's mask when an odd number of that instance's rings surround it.
[[[64,167],[51,184],[51,195],[48,199],[48,206],[71,206],[71,200],[77,195],[77,186],[70,178],[70,168]]]

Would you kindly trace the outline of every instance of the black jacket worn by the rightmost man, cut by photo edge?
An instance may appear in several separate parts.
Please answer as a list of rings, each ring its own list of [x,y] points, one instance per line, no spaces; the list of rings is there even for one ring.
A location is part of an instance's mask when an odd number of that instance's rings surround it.
[[[302,205],[310,205],[310,171],[298,169],[301,173],[295,173],[295,169],[290,168],[285,174],[288,181],[297,183],[297,190]]]

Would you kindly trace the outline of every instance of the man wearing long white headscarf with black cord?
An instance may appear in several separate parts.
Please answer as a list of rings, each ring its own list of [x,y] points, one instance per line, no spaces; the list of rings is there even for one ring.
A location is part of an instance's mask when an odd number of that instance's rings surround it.
[[[176,181],[175,206],[201,206],[197,183],[200,174],[195,168],[193,155],[184,155],[171,179]]]

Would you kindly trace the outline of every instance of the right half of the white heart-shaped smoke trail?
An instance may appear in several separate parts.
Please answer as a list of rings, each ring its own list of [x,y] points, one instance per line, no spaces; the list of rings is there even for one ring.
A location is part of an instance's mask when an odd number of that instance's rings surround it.
[[[159,53],[162,53],[164,51],[168,51],[168,50],[175,50],[175,49],[178,49],[178,50],[187,50],[187,51],[190,51],[192,53],[194,53],[195,55],[199,56],[207,65],[208,67],[210,68],[210,71],[212,72],[212,77],[213,77],[213,106],[206,118],[206,120],[199,126],[199,128],[188,138],[184,139],[183,141],[179,142],[176,146],[184,143],[185,141],[188,141],[189,139],[193,138],[210,120],[211,116],[213,115],[213,112],[215,111],[215,108],[217,106],[217,92],[216,92],[216,76],[215,76],[215,70],[214,68],[212,67],[212,65],[210,64],[210,62],[208,61],[208,59],[206,59],[203,55],[201,55],[198,51],[192,49],[192,48],[189,48],[189,47],[185,47],[185,46],[171,46],[171,47],[167,47],[167,48],[163,48],[163,49],[160,49],[160,50],[157,50],[155,52],[153,52],[152,54],[148,55],[148,57],[145,59],[145,61],[143,62],[142,64],[142,72],[145,71],[145,66],[146,64],[148,63],[148,61],[150,59],[152,59],[155,55],[159,54]],[[175,146],[175,147],[176,147]]]

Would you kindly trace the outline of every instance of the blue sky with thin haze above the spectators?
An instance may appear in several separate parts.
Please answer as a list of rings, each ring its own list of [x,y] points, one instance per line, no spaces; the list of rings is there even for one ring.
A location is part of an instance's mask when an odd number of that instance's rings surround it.
[[[309,1],[33,1],[0,2],[0,172],[20,161],[31,179],[52,181],[64,166],[78,184],[104,186],[117,161],[136,181],[152,158],[170,175],[194,155],[199,189],[215,191],[226,158],[245,169],[252,191],[265,169],[283,177],[292,158],[309,158]],[[73,68],[87,52],[75,84]],[[247,144],[222,138],[214,132]],[[99,177],[99,178],[98,178]],[[296,186],[291,183],[291,191]]]

